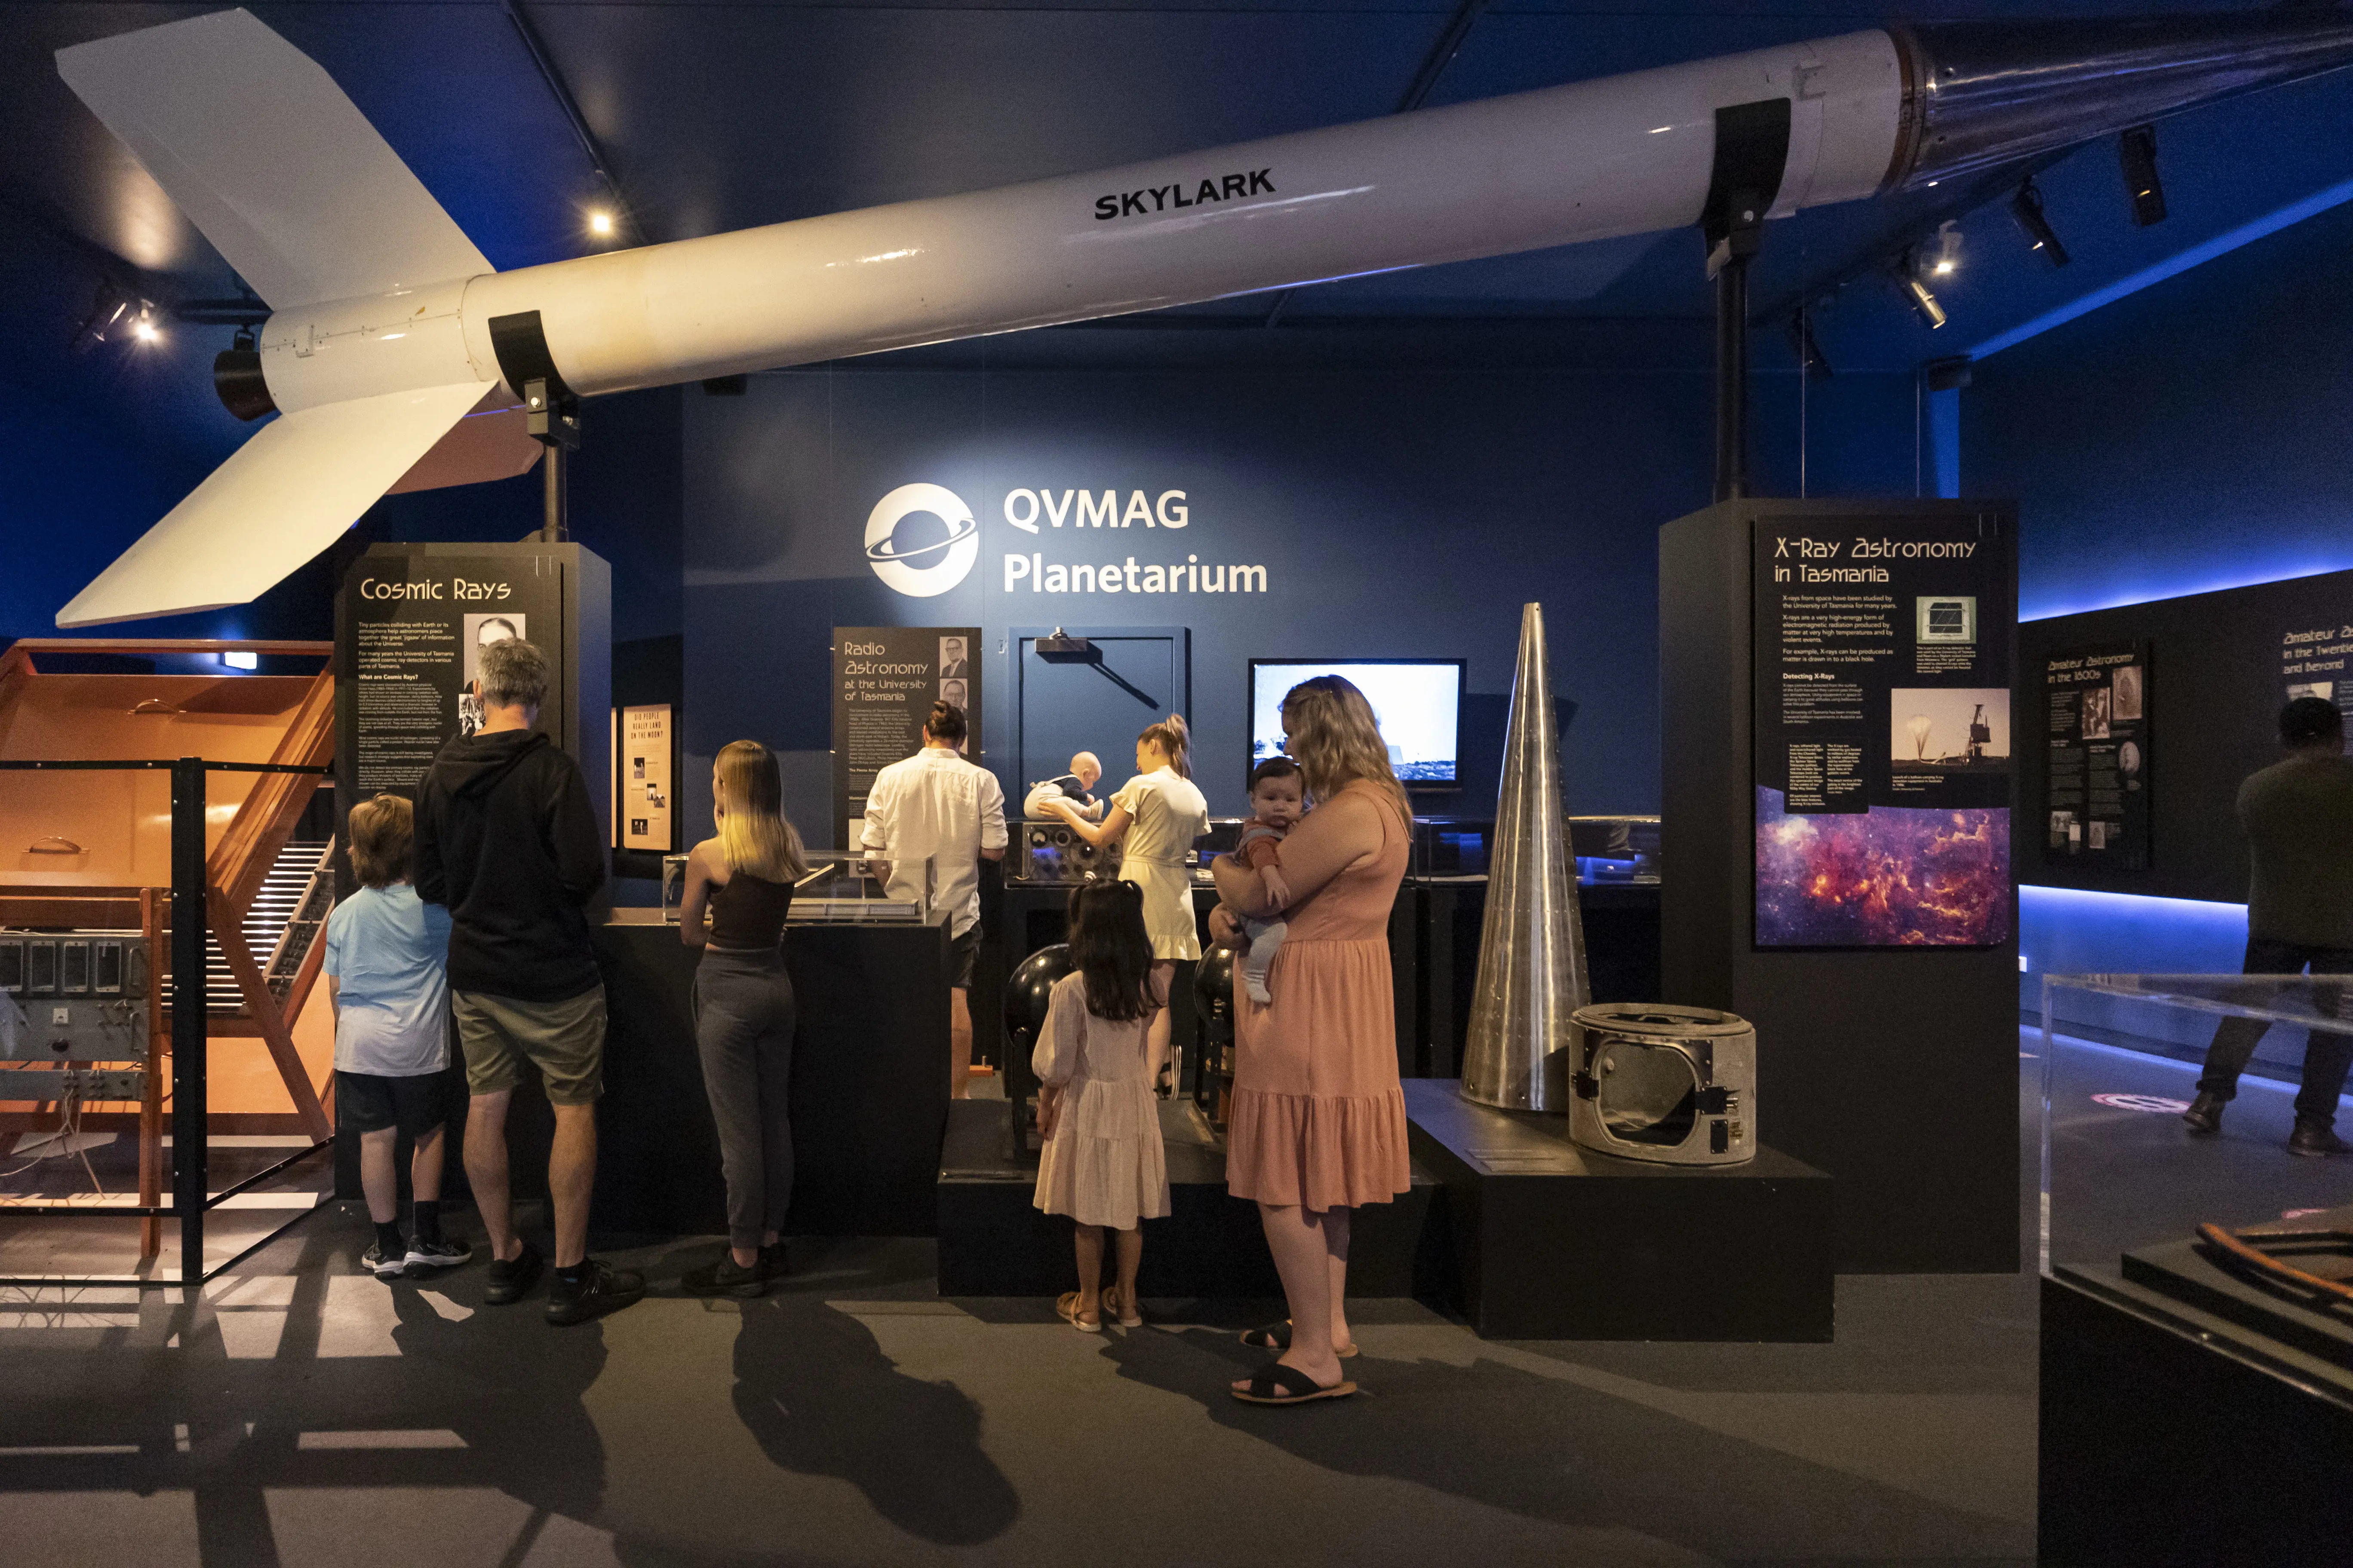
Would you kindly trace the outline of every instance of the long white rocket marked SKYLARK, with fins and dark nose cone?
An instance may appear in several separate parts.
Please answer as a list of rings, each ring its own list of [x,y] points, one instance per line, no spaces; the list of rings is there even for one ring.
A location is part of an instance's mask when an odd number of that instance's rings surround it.
[[[242,604],[525,381],[598,395],[1915,188],[2353,63],[2341,12],[1873,28],[1294,136],[499,273],[242,9],[59,73],[275,310],[278,418],[56,623]],[[1722,214],[1718,214],[1722,216]],[[1737,221],[1737,214],[1734,214]],[[440,449],[440,451],[435,451]]]

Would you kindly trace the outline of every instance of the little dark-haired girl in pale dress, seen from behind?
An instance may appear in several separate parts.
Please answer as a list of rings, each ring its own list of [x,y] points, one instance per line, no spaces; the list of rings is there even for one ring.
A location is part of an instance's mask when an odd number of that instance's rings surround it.
[[[1078,1288],[1054,1309],[1080,1333],[1104,1316],[1134,1328],[1144,1220],[1169,1211],[1167,1150],[1153,1105],[1151,1025],[1167,1013],[1153,976],[1144,898],[1125,882],[1071,893],[1071,964],[1054,983],[1031,1067],[1038,1072],[1038,1208],[1075,1220]],[[1118,1234],[1120,1284],[1104,1291],[1104,1232]]]

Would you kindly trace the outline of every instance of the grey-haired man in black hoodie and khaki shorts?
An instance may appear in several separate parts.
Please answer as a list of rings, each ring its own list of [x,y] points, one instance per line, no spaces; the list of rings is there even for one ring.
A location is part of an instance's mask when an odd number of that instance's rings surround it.
[[[485,646],[478,668],[482,729],[440,750],[416,799],[416,896],[449,910],[449,994],[473,1095],[466,1180],[492,1244],[482,1295],[515,1302],[539,1276],[506,1199],[506,1103],[529,1063],[555,1107],[548,1321],[586,1324],[645,1295],[642,1274],[588,1258],[605,983],[586,907],[605,884],[605,844],[579,764],[532,729],[548,656],[518,637]]]

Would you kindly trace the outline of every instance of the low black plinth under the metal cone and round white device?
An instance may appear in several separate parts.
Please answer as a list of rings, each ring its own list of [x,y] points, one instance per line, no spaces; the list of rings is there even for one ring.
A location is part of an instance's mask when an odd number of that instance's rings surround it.
[[[1452,1305],[1497,1340],[1821,1342],[1833,1321],[1831,1178],[1767,1147],[1654,1166],[1407,1079],[1414,1161],[1445,1182]]]

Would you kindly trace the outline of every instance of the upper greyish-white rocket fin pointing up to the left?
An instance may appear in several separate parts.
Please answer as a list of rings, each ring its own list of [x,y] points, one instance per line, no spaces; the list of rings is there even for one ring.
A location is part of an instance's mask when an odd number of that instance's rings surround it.
[[[494,270],[334,78],[252,12],[73,45],[56,71],[271,306]]]

